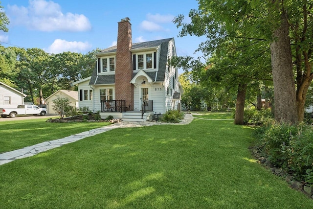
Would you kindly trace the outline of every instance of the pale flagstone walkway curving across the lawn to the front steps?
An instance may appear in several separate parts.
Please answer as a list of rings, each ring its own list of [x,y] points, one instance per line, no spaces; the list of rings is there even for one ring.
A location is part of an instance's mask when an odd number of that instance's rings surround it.
[[[114,123],[109,126],[104,126],[101,128],[92,129],[90,131],[85,131],[80,134],[71,135],[65,137],[63,139],[56,139],[51,141],[45,141],[39,144],[35,144],[32,146],[24,147],[22,149],[13,150],[10,152],[5,152],[0,154],[0,165],[5,163],[10,163],[12,161],[27,158],[33,155],[37,155],[38,153],[45,152],[49,149],[53,149],[56,147],[60,147],[64,144],[72,143],[78,141],[80,139],[84,139],[87,137],[95,136],[97,134],[104,133],[106,131],[110,131],[114,128],[131,128],[131,127],[141,127],[141,126],[153,126],[153,125],[184,125],[189,124],[193,120],[193,116],[191,114],[185,114],[184,119],[179,123],[163,123],[163,122],[126,122],[122,121],[119,123]]]

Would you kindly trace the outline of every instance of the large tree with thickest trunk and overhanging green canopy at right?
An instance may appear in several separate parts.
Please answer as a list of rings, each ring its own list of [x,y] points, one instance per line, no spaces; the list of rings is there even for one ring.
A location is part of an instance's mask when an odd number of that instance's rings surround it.
[[[181,27],[179,35],[205,35],[207,41],[201,43],[198,49],[204,55],[213,53],[227,39],[264,41],[271,49],[272,72],[275,77],[273,80],[276,90],[274,91],[275,119],[291,123],[297,122],[298,117],[301,120],[299,115],[303,112],[303,108],[300,107],[302,105],[300,100],[305,99],[308,83],[311,82],[311,76],[313,76],[311,73],[313,2],[307,0],[199,0],[199,4],[198,11],[191,10],[189,13],[191,23],[183,23],[182,15],[175,19],[174,22]],[[289,36],[291,36],[291,42],[287,41]],[[297,56],[294,62],[297,65],[297,97],[295,97],[294,82],[291,79],[292,59],[290,59],[289,48],[293,49],[292,51],[296,52],[294,55]],[[285,57],[280,59],[282,50],[288,59]],[[286,99],[285,95],[289,95],[289,98]],[[296,99],[297,107],[294,102]]]

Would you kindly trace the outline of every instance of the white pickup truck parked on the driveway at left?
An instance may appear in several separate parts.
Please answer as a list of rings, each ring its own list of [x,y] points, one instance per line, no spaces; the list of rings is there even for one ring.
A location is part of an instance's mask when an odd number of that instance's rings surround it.
[[[0,108],[1,117],[16,117],[17,115],[41,115],[45,116],[47,109],[36,105],[18,105],[17,108]]]

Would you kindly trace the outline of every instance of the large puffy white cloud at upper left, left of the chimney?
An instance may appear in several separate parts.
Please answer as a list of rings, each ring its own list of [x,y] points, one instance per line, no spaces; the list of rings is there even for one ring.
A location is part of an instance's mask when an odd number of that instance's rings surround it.
[[[91,29],[89,19],[82,14],[63,14],[61,6],[49,0],[29,0],[28,7],[9,5],[10,22],[40,31],[86,31]]]

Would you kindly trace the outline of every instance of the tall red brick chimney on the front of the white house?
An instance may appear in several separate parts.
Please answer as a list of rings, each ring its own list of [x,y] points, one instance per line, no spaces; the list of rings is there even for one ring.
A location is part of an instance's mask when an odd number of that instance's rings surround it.
[[[129,18],[118,22],[116,68],[115,68],[115,99],[126,100],[126,106],[134,110],[134,87],[132,59],[132,24]]]

